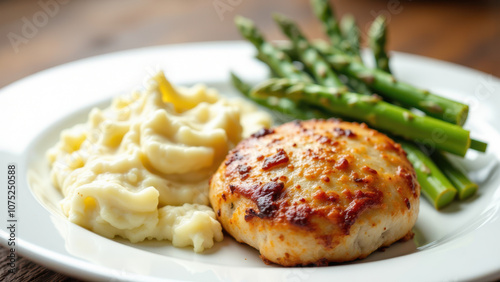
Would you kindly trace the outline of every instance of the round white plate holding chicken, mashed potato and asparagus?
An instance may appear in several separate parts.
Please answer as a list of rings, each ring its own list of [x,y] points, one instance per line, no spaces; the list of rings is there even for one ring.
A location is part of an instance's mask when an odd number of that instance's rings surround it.
[[[145,48],[85,59],[20,80],[0,92],[0,182],[17,165],[17,251],[49,268],[84,279],[442,281],[500,277],[500,81],[483,73],[413,55],[393,54],[402,80],[470,105],[466,127],[489,142],[471,151],[466,167],[479,183],[476,197],[438,212],[422,200],[415,239],[367,259],[329,267],[265,265],[258,252],[226,236],[203,254],[167,242],[109,240],[69,223],[48,178],[45,150],[61,129],[86,119],[93,106],[140,86],[156,68],[176,84],[204,82],[225,93],[233,69],[251,81],[266,76],[243,42]],[[0,231],[7,244],[7,192],[0,195]]]

